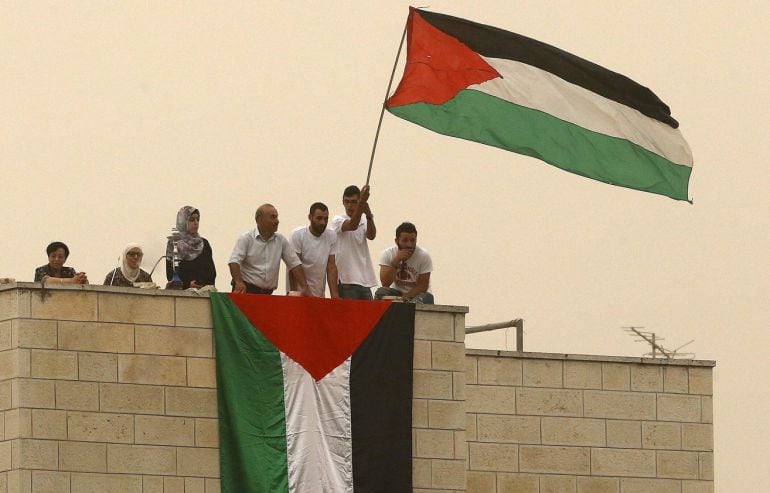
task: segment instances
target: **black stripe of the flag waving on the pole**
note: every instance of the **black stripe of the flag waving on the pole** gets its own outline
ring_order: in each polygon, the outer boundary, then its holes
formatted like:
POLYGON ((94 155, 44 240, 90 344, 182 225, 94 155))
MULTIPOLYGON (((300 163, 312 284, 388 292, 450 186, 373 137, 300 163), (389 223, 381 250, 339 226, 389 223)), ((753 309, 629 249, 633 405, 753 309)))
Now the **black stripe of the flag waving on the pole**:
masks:
POLYGON ((507 58, 547 70, 673 128, 679 126, 671 109, 655 93, 625 75, 520 34, 446 14, 424 10, 416 13, 482 56, 507 58))

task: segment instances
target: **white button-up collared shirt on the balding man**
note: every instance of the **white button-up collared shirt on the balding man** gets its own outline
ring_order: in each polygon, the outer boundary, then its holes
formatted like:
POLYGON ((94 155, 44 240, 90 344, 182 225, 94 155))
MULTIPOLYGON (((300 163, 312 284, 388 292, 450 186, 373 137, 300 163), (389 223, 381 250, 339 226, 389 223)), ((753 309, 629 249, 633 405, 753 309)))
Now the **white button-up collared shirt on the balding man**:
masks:
POLYGON ((238 237, 228 263, 240 264, 244 281, 262 289, 275 289, 281 259, 289 270, 301 264, 283 235, 275 233, 265 241, 259 235, 259 229, 254 228, 238 237))

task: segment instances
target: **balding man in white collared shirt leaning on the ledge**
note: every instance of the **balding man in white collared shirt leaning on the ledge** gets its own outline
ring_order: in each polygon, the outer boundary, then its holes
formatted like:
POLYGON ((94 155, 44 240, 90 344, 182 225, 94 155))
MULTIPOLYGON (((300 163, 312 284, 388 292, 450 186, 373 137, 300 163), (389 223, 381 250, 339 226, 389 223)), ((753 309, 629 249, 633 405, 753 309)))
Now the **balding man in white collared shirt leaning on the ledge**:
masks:
POLYGON ((272 294, 278 287, 281 259, 303 295, 308 294, 302 262, 283 235, 278 233, 278 211, 262 204, 254 215, 257 227, 238 237, 230 254, 234 293, 272 294))

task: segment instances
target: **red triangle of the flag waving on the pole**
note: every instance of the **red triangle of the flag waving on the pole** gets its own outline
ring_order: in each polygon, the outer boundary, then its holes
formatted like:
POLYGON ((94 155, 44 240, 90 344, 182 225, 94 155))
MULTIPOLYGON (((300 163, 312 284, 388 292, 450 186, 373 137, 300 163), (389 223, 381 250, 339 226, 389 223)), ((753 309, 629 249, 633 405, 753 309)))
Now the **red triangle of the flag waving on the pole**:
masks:
POLYGON ((501 77, 475 51, 436 29, 410 8, 404 76, 386 107, 444 104, 473 84, 501 77))

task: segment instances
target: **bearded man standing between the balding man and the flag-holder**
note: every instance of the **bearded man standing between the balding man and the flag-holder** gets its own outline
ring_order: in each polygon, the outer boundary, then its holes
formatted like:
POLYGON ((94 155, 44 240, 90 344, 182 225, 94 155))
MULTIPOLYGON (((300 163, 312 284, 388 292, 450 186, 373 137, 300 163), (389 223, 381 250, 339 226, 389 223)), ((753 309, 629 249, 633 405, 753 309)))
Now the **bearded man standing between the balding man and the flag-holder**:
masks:
MULTIPOLYGON (((300 226, 291 233, 291 246, 302 261, 305 279, 310 296, 323 298, 326 296, 326 282, 329 283, 329 294, 339 298, 337 286, 337 234, 326 225, 329 223, 329 208, 321 202, 310 206, 307 218, 310 225, 300 226)), ((296 289, 296 282, 287 274, 286 285, 291 290, 296 289)))

